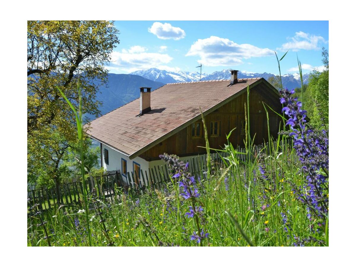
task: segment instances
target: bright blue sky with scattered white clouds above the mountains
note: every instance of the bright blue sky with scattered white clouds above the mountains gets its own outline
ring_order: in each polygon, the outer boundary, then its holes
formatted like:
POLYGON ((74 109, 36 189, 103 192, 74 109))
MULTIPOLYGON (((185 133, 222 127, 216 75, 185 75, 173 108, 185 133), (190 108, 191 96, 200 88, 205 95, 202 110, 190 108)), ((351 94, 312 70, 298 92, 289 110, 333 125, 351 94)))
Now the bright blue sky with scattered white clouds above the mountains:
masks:
POLYGON ((115 21, 120 44, 112 53, 111 73, 151 67, 212 73, 238 69, 257 73, 303 73, 321 68, 321 47, 329 49, 328 21, 115 21))

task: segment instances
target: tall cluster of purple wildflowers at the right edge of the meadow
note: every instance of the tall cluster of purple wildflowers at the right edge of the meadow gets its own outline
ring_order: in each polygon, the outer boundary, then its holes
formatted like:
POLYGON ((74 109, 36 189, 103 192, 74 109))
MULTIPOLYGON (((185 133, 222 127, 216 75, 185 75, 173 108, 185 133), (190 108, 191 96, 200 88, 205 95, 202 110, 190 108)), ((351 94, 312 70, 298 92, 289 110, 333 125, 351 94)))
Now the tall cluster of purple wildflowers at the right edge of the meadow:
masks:
POLYGON ((328 213, 329 198, 328 171, 329 171, 329 139, 325 130, 317 134, 312 129, 306 129, 307 112, 301 110, 302 103, 293 96, 294 91, 281 90, 281 103, 286 104, 282 111, 289 116, 286 125, 292 132, 294 148, 302 163, 302 172, 306 174, 307 185, 304 188, 294 187, 296 198, 309 208, 315 215, 326 219, 328 213), (321 174, 319 171, 323 171, 321 174), (305 190, 307 193, 304 193, 305 190))

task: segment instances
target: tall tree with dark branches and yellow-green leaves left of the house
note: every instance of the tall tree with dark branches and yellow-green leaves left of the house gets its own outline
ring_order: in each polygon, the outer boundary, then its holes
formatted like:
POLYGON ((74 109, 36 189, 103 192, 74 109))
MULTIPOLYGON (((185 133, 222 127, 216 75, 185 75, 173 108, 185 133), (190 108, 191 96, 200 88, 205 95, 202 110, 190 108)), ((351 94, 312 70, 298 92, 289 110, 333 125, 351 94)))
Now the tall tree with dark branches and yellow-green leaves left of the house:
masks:
POLYGON ((59 87, 83 114, 98 115, 95 95, 107 83, 119 31, 109 21, 27 22, 28 179, 57 184, 69 173, 62 164, 77 146, 75 117, 59 87))

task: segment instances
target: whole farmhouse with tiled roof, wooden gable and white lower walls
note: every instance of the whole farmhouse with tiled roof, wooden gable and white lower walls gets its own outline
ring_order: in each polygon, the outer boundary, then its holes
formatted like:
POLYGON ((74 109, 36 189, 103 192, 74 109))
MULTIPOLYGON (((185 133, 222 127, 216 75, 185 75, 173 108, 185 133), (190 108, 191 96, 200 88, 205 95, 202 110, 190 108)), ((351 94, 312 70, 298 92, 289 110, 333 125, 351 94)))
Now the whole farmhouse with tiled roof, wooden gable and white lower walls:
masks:
MULTIPOLYGON (((281 111, 278 91, 263 78, 166 84, 151 92, 140 88, 140 98, 117 108, 90 123, 89 137, 100 142, 101 164, 108 171, 138 173, 162 164, 159 155, 178 155, 186 159, 206 153, 203 112, 211 148, 224 147, 229 140, 243 146, 245 103, 250 88, 250 132, 254 143, 268 139, 266 111, 262 102, 281 111)), ((269 112, 269 130, 276 137, 280 125, 277 114, 269 112)))

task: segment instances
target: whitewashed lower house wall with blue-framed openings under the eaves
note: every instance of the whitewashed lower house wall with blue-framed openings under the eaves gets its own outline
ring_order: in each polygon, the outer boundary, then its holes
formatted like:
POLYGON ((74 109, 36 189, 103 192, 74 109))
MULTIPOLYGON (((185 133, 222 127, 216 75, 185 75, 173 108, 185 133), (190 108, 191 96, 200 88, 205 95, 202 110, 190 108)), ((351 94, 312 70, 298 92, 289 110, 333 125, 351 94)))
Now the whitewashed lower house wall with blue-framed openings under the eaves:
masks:
MULTIPOLYGON (((124 155, 123 153, 113 150, 112 148, 102 144, 102 151, 101 151, 102 155, 102 159, 103 159, 103 167, 104 169, 106 169, 107 171, 115 171, 115 170, 120 170, 120 173, 122 174, 122 168, 121 168, 121 159, 125 159, 127 162, 127 172, 130 172, 130 177, 131 177, 131 181, 132 181, 132 176, 131 176, 131 172, 133 173, 133 162, 136 162, 137 164, 140 164, 140 168, 143 170, 143 172, 145 173, 145 171, 148 171, 148 161, 146 161, 143 158, 140 157, 136 157, 134 159, 129 159, 128 156, 124 155), (107 149, 109 152, 109 164, 105 163, 104 160, 104 149, 107 149)), ((128 177, 127 177, 128 178, 128 177)), ((124 179, 124 181, 126 182, 126 177, 123 176, 122 179, 124 179)), ((140 173, 140 179, 141 182, 143 182, 142 177, 141 177, 141 173, 140 173)), ((128 179, 127 179, 128 180, 128 179)))

